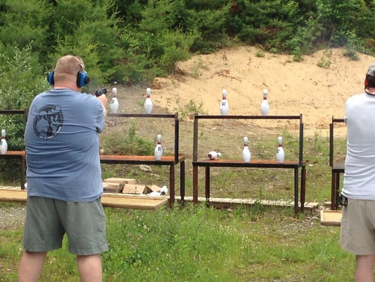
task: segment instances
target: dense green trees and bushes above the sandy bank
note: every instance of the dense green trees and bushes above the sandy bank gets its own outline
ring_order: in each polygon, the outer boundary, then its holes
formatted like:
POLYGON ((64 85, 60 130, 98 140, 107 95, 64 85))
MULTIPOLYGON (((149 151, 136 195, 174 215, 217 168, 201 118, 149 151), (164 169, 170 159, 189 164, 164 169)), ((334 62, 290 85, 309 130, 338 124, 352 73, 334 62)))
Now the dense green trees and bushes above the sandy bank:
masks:
MULTIPOLYGON (((2 0, 0 108, 25 109, 48 87, 63 54, 82 56, 89 89, 148 85, 179 61, 234 46, 255 46, 293 61, 319 49, 375 54, 372 0, 2 0)), ((1 120, 23 148, 23 123, 1 120)))

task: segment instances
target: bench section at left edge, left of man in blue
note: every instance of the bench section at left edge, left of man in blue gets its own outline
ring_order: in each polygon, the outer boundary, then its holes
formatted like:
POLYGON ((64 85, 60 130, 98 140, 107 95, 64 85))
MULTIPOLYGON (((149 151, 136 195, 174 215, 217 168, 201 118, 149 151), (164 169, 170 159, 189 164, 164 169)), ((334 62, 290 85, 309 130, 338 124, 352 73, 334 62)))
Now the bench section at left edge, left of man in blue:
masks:
MULTIPOLYGON (((26 125, 27 121, 27 112, 28 109, 25 110, 0 110, 0 116, 1 115, 13 115, 13 114, 22 114, 24 115, 24 121, 26 125)), ((11 140, 6 139, 6 142, 8 142, 8 148, 11 147, 11 140)), ((26 157, 25 157, 25 150, 20 151, 11 151, 8 150, 6 154, 0 154, 0 159, 20 159, 20 183, 21 183, 21 189, 25 189, 25 183, 26 183, 26 157)))

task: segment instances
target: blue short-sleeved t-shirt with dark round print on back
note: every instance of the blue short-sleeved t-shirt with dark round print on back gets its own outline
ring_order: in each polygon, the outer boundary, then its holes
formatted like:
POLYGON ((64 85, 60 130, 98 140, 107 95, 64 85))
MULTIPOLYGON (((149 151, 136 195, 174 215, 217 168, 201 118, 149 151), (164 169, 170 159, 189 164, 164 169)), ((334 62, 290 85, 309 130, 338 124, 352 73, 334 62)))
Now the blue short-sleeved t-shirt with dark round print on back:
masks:
POLYGON ((25 128, 28 196, 91 202, 103 194, 99 138, 105 116, 90 94, 52 89, 34 98, 25 128))

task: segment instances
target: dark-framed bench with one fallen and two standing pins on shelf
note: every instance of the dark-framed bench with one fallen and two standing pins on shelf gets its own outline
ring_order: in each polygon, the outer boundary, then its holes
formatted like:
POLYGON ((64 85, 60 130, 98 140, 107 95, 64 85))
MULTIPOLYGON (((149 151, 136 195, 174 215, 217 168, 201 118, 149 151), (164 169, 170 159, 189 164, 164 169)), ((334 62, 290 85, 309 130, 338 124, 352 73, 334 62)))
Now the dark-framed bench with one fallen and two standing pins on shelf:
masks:
POLYGON ((243 167, 243 168, 291 168, 294 171, 294 210, 298 214, 298 183, 299 168, 301 168, 300 180, 300 210, 303 211, 305 204, 306 190, 306 169, 305 161, 303 161, 303 122, 302 114, 300 116, 194 116, 193 125, 193 202, 198 203, 198 167, 205 167, 205 198, 209 202, 210 198, 210 167, 243 167), (198 160, 198 121, 203 119, 236 119, 236 120, 299 120, 299 157, 296 160, 286 160, 279 164, 276 160, 269 159, 251 159, 249 163, 245 163, 243 159, 200 159, 198 160))

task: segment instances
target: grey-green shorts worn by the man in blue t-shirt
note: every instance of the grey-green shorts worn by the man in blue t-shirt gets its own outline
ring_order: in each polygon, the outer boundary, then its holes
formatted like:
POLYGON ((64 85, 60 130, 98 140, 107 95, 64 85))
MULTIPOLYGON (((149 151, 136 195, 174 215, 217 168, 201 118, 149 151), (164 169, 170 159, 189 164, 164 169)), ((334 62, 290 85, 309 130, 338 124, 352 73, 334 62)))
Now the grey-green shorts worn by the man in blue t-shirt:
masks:
POLYGON ((108 250, 106 214, 101 199, 93 202, 65 202, 46 197, 27 197, 23 248, 48 252, 62 247, 75 255, 95 255, 108 250))

